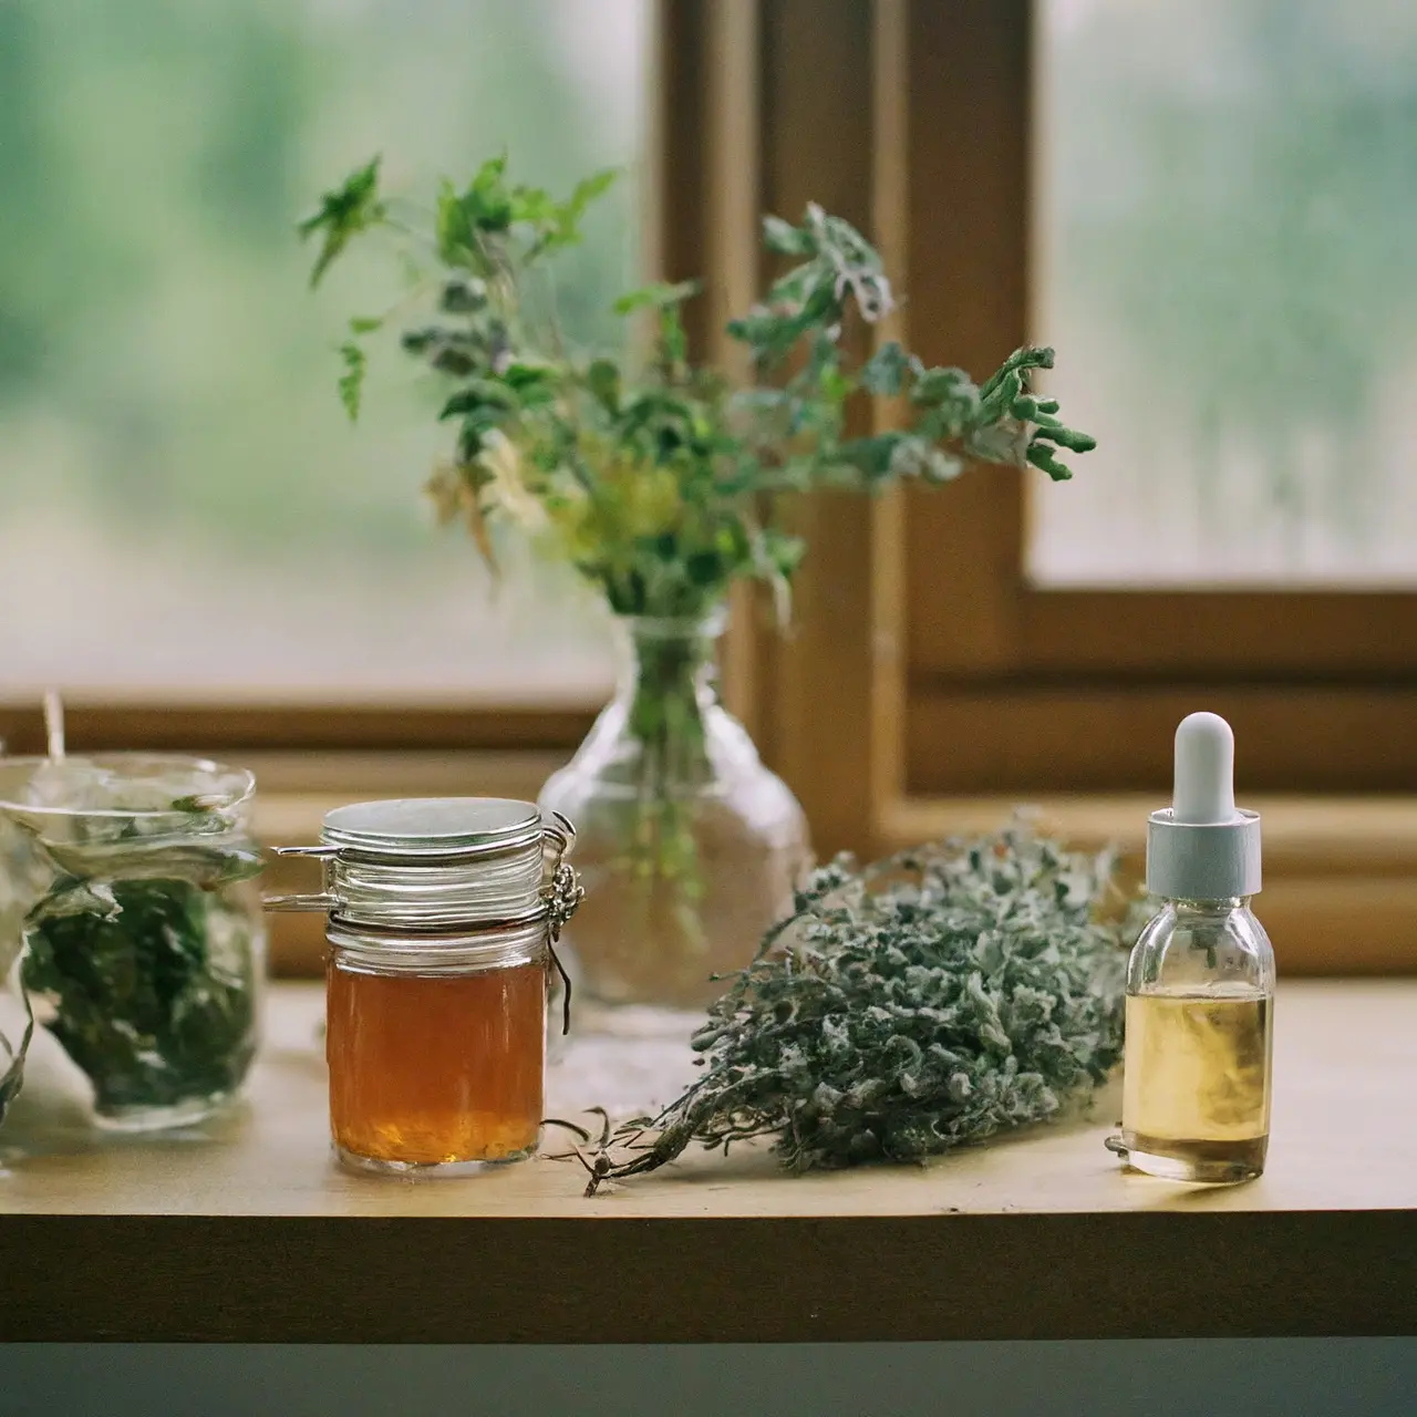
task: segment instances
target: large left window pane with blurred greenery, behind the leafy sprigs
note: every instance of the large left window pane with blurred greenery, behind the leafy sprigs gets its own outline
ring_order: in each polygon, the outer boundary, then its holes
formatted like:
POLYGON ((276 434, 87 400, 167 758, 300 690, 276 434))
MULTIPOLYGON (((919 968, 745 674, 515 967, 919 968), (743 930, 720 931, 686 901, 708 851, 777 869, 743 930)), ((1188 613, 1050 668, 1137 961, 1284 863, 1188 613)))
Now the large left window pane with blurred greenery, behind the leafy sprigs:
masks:
MULTIPOLYGON (((295 222, 374 152, 424 201, 502 147, 568 190, 636 157, 648 0, 0 3, 0 697, 441 694, 608 679, 597 608, 438 531, 446 431, 395 344, 334 347, 391 258, 306 289, 295 222)), ((633 279, 633 176, 564 265, 580 341, 633 279)))

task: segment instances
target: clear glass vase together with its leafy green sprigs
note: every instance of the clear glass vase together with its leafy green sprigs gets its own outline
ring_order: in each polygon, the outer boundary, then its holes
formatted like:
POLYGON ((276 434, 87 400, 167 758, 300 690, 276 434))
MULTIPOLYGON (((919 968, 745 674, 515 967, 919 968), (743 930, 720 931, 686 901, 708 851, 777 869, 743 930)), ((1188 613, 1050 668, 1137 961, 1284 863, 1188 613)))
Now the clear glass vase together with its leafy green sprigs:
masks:
POLYGON ((711 972, 752 958, 808 854, 791 794, 714 697, 711 626, 730 587, 764 582, 788 614, 806 547, 784 513, 803 493, 938 485, 972 462, 1061 480, 1060 449, 1094 441, 1030 388, 1050 349, 1015 350, 982 384, 896 341, 856 359, 860 327, 893 306, 890 282, 870 242, 815 204, 796 225, 764 220, 779 273, 728 324, 755 387, 691 360, 680 312, 693 282, 616 303, 648 320, 648 339, 571 349, 551 262, 611 180, 595 174, 558 200, 513 183, 495 157, 462 187, 444 181, 429 211, 405 214, 380 191, 374 160, 300 231, 319 241, 312 283, 353 239, 380 232, 419 272, 407 307, 350 322, 339 381, 350 415, 367 343, 397 320, 404 353, 448 384, 438 417, 451 456, 429 483, 442 519, 466 524, 489 561, 497 529, 519 530, 628 626, 621 693, 544 802, 581 832, 591 893, 571 942, 591 992, 697 1005, 718 992, 711 972), (897 400, 898 425, 856 435, 874 397, 897 400))

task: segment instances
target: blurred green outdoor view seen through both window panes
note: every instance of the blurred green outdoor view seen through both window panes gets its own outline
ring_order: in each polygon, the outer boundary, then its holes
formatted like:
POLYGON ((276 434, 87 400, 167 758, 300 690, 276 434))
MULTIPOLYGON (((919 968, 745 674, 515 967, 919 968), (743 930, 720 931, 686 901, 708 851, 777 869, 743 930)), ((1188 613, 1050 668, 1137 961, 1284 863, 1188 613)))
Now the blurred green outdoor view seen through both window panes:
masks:
MULTIPOLYGON (((561 315, 636 278, 645 0, 0 0, 0 699, 584 699, 604 626, 431 526, 436 391, 334 395, 354 163, 623 163, 561 315)), ((1417 581, 1417 6, 1041 0, 1033 334, 1101 438, 1043 489, 1054 584, 1417 581)))

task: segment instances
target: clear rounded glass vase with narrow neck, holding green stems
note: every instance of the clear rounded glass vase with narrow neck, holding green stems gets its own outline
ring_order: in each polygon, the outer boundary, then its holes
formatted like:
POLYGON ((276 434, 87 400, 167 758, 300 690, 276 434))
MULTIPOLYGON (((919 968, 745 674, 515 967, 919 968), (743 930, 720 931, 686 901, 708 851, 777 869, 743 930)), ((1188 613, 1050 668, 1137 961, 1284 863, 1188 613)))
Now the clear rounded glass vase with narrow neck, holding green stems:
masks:
POLYGON ((718 703, 724 619, 623 619, 615 699, 541 792, 578 833, 568 966, 606 1003, 710 1003, 811 863, 801 805, 718 703))

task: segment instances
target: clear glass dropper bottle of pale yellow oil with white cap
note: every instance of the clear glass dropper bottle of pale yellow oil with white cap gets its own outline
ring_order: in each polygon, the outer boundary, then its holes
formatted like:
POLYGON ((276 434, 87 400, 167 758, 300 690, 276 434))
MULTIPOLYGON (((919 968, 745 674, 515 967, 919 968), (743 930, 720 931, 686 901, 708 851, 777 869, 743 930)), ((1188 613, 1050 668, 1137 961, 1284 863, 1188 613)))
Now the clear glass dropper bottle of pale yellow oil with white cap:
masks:
POLYGON ((1122 1135, 1110 1145, 1153 1176, 1250 1180, 1270 1144, 1274 951, 1250 910, 1260 816, 1236 808, 1234 734, 1217 714, 1176 730, 1146 887, 1163 905, 1127 968, 1122 1135))

